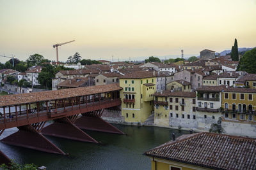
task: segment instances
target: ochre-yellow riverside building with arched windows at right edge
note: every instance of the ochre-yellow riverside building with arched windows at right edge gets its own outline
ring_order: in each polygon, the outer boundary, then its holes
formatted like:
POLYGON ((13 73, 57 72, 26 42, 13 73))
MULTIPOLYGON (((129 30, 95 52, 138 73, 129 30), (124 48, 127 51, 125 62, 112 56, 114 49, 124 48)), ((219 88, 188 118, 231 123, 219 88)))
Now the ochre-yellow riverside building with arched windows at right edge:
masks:
POLYGON ((256 89, 228 87, 223 90, 221 96, 225 120, 256 122, 256 89))

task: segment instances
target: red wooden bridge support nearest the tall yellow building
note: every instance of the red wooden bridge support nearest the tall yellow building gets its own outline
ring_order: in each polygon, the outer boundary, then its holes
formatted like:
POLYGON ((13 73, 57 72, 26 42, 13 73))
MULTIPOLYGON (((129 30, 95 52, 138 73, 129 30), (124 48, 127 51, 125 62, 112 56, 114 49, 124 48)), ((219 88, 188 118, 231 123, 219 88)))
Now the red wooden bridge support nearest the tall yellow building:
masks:
POLYGON ((124 134, 124 132, 117 129, 115 126, 109 124, 101 118, 102 110, 92 111, 89 113, 83 113, 81 118, 78 118, 75 122, 77 127, 90 131, 109 132, 115 134, 124 134))

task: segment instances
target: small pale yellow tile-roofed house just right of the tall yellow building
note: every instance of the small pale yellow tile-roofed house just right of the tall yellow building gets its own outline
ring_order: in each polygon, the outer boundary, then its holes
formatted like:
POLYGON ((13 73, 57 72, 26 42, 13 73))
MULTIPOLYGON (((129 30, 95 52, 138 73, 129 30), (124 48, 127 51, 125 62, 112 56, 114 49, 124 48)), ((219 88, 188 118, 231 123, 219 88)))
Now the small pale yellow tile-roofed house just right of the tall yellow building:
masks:
POLYGON ((168 83, 166 85, 166 90, 181 91, 181 92, 190 92, 191 83, 185 80, 176 80, 168 83))

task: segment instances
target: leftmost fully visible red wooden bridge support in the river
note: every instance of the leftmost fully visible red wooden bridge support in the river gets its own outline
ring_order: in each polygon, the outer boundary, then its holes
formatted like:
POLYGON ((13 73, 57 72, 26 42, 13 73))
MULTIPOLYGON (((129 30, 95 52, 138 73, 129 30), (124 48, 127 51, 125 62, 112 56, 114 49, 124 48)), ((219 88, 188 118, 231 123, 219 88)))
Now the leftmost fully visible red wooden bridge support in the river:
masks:
POLYGON ((42 152, 65 155, 65 153, 60 148, 58 148, 56 145, 51 143, 51 141, 40 134, 44 124, 45 122, 39 122, 32 125, 17 127, 19 131, 11 134, 10 136, 7 136, 1 141, 8 145, 21 146, 42 152))

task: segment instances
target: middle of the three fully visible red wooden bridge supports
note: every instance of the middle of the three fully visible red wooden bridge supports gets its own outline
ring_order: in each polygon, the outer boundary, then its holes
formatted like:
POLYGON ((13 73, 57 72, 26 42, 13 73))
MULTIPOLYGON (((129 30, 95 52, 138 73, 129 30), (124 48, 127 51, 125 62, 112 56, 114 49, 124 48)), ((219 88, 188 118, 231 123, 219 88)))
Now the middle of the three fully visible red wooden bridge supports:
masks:
POLYGON ((98 143, 95 139, 90 137, 72 123, 76 121, 77 116, 78 115, 73 115, 54 120, 53 124, 48 125, 42 130, 42 134, 59 138, 73 139, 76 141, 98 143))

